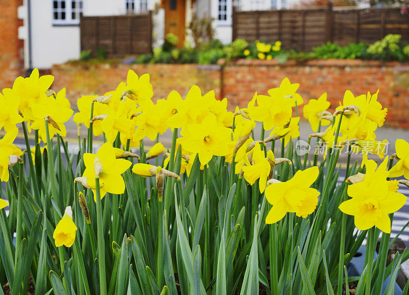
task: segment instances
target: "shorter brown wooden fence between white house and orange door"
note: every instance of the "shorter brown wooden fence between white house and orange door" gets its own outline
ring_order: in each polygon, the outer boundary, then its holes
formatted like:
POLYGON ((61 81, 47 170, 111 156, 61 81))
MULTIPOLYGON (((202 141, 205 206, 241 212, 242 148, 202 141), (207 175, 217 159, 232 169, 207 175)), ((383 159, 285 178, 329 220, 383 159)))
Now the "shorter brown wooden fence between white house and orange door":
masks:
POLYGON ((152 52, 152 15, 86 16, 80 19, 81 51, 107 58, 152 52))

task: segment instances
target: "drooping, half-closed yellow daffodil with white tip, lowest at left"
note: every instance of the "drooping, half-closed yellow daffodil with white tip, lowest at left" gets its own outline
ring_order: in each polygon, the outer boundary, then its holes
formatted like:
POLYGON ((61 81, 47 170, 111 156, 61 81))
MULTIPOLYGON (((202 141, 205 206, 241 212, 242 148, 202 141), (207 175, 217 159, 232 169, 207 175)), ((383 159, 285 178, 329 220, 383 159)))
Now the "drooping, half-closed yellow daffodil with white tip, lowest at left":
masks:
POLYGON ((53 233, 55 246, 61 247, 64 245, 65 247, 71 247, 75 241, 76 231, 77 227, 73 222, 73 211, 71 206, 68 206, 65 208, 65 213, 53 233))

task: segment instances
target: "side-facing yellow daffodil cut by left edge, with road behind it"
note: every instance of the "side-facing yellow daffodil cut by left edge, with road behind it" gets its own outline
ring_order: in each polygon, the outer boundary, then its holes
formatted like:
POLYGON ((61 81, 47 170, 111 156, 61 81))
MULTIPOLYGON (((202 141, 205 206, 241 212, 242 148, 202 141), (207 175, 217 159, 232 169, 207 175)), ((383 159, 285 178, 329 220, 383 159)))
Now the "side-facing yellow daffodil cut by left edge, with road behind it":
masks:
POLYGON ((10 156, 21 156, 21 150, 13 144, 18 133, 18 129, 15 128, 6 133, 2 139, 0 139, 0 180, 9 181, 9 163, 10 156))

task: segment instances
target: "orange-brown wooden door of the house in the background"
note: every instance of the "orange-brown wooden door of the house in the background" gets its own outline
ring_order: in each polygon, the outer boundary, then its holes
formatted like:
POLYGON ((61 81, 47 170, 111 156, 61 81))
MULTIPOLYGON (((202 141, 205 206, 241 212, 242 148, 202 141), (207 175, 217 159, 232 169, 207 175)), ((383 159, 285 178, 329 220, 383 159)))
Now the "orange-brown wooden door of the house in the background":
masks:
POLYGON ((186 0, 165 0, 165 35, 172 33, 179 38, 178 47, 185 41, 186 0))

